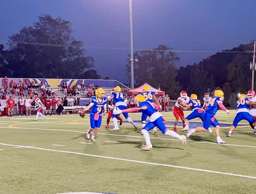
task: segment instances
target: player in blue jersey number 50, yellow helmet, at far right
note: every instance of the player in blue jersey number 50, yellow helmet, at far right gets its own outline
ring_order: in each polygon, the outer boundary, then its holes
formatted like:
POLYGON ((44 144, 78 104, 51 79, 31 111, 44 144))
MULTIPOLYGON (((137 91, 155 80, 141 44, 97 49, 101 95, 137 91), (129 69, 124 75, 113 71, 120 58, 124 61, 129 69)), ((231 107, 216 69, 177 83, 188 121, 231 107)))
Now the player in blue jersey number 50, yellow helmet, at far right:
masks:
POLYGON ((237 124, 241 121, 241 120, 247 120, 249 121, 249 123, 252 123, 253 127, 254 127, 254 132, 256 131, 256 122, 253 119, 252 115, 250 115, 248 108, 249 108, 249 99, 246 97, 245 94, 241 94, 239 96, 239 100, 236 102, 236 107, 237 107, 237 111, 236 111, 236 117, 233 121, 232 126, 230 126, 229 128, 229 132, 227 133, 226 137, 230 137, 232 131, 236 128, 237 124))

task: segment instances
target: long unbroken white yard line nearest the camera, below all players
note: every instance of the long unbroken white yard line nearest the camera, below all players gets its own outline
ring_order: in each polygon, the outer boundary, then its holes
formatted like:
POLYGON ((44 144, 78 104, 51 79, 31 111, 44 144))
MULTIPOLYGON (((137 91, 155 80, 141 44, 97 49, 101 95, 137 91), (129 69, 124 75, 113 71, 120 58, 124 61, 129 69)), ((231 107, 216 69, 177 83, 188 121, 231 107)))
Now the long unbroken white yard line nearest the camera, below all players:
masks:
POLYGON ((161 163, 154 163, 154 162, 144 162, 144 161, 138 161, 138 160, 130 160, 130 159, 124 159, 124 158, 115 158, 115 157, 102 156, 102 155, 94 155, 94 154, 85 154, 85 153, 79 153, 79 152, 69 152, 69 151, 55 150, 55 149, 45 149, 45 148, 41 148, 41 147, 27 147, 27 146, 5 144, 5 143, 0 143, 0 145, 12 146, 12 147, 26 147, 26 148, 30 148, 30 149, 38 149, 38 150, 44 150, 44 151, 52 151, 52 152, 62 152, 62 153, 68 153, 68 154, 85 155, 85 156, 91 156, 91 157, 97 157, 97 158, 105 158, 105 159, 111 159, 111 160, 120 160, 120 161, 126 161, 126 162, 136 162, 136 163, 141 163, 141 164, 165 166, 165 167, 172 167, 172 168, 178 168, 178 169, 194 170, 194 171, 208 172, 208 173, 214 173, 214 174, 221 174, 221 175, 228 175, 228 176, 238 176, 238 177, 243 177, 243 178, 256 179, 256 176, 239 175, 239 174, 233 174, 233 173, 227 173, 227 172, 219 172, 219 171, 206 170, 206 169, 196 169, 196 168, 190 168, 190 167, 185 167, 185 166, 175 166, 175 165, 170 165, 170 164, 161 164, 161 163))

